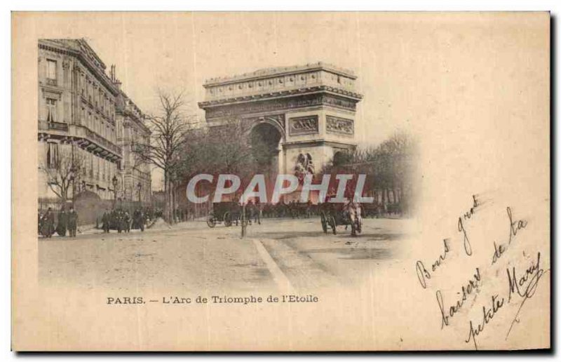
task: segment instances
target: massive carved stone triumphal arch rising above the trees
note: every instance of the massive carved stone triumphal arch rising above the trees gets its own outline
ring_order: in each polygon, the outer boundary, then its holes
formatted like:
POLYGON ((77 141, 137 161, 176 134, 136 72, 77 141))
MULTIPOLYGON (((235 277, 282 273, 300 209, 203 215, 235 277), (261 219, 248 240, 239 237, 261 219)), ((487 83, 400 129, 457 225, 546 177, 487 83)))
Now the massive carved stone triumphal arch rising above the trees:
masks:
POLYGON ((273 143, 275 173, 293 174, 302 163, 319 170, 336 152, 356 147, 356 105, 362 95, 355 80, 352 72, 323 62, 261 69, 209 79, 198 106, 210 127, 248 121, 252 136, 273 143))

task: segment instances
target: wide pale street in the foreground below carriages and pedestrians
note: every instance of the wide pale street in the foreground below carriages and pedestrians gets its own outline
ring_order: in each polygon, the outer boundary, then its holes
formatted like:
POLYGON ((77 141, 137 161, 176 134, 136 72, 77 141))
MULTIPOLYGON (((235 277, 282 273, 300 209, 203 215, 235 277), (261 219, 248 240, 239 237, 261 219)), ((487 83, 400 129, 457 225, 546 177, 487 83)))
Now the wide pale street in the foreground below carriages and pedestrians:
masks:
POLYGON ((365 219, 352 237, 344 226, 324 234, 318 217, 265 219, 241 227, 203 220, 145 232, 39 239, 42 286, 137 290, 309 291, 353 286, 372 269, 400 260, 410 220, 365 219))

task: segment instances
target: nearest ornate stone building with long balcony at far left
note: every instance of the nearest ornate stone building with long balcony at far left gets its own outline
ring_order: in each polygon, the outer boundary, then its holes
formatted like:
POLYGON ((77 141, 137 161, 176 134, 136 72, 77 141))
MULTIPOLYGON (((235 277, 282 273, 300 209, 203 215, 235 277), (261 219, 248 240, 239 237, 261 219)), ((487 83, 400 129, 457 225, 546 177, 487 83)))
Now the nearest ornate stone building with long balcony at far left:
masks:
POLYGON ((39 197, 127 194, 119 81, 83 39, 41 39, 38 61, 39 197))

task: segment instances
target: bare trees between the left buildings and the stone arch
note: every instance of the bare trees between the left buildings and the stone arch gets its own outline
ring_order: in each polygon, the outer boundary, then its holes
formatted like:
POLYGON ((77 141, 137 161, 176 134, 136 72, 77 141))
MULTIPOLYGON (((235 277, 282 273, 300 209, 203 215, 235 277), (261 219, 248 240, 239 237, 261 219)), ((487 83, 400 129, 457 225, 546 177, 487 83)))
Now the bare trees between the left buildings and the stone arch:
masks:
MULTIPOLYGON (((164 219, 172 223, 178 206, 177 189, 198 173, 232 173, 242 179, 257 172, 256 154, 266 145, 250 142, 250 123, 228 121, 209 130, 184 113, 182 94, 158 93, 159 115, 147 116, 152 131, 149 143, 133 146, 137 163, 160 168, 164 185, 164 219)), ((259 161, 259 160, 257 160, 259 161)))

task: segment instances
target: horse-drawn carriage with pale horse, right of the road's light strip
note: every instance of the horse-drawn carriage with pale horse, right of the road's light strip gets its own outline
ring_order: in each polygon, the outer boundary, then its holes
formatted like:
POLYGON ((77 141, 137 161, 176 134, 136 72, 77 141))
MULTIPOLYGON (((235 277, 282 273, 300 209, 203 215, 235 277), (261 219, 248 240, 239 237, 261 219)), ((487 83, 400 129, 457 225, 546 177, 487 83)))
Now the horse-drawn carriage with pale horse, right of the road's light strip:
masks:
POLYGON ((329 227, 333 234, 337 234, 338 226, 348 227, 351 225, 351 236, 356 236, 362 232, 362 217, 360 215, 360 205, 358 203, 323 203, 320 206, 320 219, 323 232, 327 234, 329 227))

